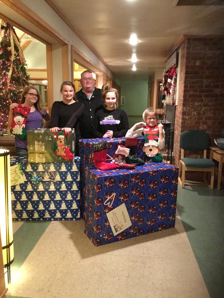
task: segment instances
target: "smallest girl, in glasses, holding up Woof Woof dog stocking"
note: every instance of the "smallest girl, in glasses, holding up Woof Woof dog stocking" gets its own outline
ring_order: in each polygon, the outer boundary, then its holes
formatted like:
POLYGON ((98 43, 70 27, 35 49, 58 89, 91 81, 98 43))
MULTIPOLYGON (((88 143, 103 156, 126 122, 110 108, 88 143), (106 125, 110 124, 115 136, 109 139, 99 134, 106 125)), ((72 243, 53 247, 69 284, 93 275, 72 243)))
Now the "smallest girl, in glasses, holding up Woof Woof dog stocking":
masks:
POLYGON ((125 135, 126 138, 137 138, 142 136, 145 137, 145 146, 143 151, 146 154, 146 159, 154 162, 162 162, 162 155, 160 150, 165 146, 165 131, 163 125, 158 125, 159 116, 154 108, 148 108, 142 114, 144 122, 136 123, 131 129, 128 130, 125 135), (146 122, 146 123, 145 123, 146 122), (136 130, 137 127, 141 127, 136 130), (157 147, 157 154, 153 154, 157 147))

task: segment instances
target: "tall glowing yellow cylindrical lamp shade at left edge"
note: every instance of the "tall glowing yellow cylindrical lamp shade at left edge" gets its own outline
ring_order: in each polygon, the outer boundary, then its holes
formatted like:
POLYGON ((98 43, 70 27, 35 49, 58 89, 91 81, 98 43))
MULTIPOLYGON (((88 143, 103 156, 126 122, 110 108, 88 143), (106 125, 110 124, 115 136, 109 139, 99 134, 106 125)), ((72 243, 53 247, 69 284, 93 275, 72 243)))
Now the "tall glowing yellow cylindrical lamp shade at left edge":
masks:
POLYGON ((0 148, 0 227, 4 267, 14 260, 9 150, 0 148))

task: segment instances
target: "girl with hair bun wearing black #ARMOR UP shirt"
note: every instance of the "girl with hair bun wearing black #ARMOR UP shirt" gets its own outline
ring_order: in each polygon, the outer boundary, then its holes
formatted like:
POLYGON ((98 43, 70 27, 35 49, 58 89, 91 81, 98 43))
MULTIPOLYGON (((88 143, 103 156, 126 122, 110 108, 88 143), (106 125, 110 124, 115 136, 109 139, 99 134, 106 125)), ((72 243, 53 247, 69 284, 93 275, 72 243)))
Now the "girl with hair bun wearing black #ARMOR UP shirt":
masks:
POLYGON ((115 107, 117 98, 117 89, 110 88, 108 84, 102 86, 102 99, 106 108, 96 112, 93 121, 95 138, 120 138, 127 133, 128 117, 125 111, 115 107))

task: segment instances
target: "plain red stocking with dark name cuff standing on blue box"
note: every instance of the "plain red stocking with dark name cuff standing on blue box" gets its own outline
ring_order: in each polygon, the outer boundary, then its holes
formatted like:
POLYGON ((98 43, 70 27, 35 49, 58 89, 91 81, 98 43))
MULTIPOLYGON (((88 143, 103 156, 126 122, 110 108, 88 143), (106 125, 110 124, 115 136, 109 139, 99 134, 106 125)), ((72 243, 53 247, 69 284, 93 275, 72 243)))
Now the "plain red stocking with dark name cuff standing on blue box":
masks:
POLYGON ((107 142, 95 144, 93 146, 93 156, 94 156, 94 166, 97 169, 106 171, 113 170, 117 168, 115 163, 107 163, 107 142))

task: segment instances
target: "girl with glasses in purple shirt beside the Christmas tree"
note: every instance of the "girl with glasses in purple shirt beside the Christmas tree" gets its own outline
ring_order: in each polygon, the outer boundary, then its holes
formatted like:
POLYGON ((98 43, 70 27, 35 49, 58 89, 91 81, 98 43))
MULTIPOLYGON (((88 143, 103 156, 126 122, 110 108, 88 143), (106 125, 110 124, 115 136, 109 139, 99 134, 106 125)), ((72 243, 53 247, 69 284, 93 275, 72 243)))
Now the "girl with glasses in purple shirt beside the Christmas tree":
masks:
MULTIPOLYGON (((40 94, 39 91, 34 86, 27 86, 21 96, 20 100, 21 105, 30 107, 30 113, 27 116, 27 122, 25 125, 25 130, 30 130, 30 128, 40 128, 42 123, 42 118, 45 120, 44 127, 50 125, 50 116, 47 111, 42 108, 40 104, 40 94)), ((12 103, 9 110, 8 118, 8 128, 12 124, 13 119, 13 109, 17 108, 17 103, 12 103)), ((22 140, 19 137, 15 136, 15 146, 16 146, 16 155, 27 157, 27 141, 22 140)))

